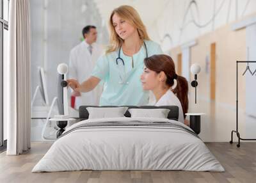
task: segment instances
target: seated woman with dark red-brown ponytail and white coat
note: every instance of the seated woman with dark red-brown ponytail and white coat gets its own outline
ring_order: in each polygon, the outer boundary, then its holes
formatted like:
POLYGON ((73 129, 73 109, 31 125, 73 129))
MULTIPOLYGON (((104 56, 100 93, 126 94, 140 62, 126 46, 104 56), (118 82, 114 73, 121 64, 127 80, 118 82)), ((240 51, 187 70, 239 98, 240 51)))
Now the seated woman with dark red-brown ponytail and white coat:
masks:
POLYGON ((144 60, 141 75, 143 90, 151 90, 156 98, 154 106, 178 106, 179 122, 184 123, 188 113, 188 81, 178 76, 170 56, 159 54, 144 60))

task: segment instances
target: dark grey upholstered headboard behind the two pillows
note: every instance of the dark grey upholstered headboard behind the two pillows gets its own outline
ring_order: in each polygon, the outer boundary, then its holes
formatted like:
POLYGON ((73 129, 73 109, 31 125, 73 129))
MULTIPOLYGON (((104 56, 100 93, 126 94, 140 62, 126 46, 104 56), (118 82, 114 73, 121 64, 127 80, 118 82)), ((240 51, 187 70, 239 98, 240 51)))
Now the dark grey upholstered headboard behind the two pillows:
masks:
MULTIPOLYGON (((119 106, 80 106, 79 107, 79 118, 81 120, 87 120, 89 117, 89 113, 86 109, 86 107, 119 107, 119 106)), ((124 107, 124 106, 122 106, 124 107)), ((140 109, 170 109, 170 112, 168 113, 167 118, 169 120, 176 120, 178 121, 179 119, 179 107, 178 106, 125 106, 131 108, 140 108, 140 109)), ((126 117, 131 117, 131 114, 127 110, 126 113, 124 114, 126 117)))

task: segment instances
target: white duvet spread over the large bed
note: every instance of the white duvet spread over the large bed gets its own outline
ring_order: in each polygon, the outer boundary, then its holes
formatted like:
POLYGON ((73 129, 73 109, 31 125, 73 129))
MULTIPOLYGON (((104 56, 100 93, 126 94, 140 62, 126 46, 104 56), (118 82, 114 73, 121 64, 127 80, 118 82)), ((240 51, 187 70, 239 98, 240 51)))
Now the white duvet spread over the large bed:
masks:
MULTIPOLYGON (((170 122, 163 118, 84 120, 55 141, 32 172, 72 170, 225 171, 200 138, 168 127, 89 127, 93 122, 170 122)), ((186 127, 189 129, 188 127, 186 127)))

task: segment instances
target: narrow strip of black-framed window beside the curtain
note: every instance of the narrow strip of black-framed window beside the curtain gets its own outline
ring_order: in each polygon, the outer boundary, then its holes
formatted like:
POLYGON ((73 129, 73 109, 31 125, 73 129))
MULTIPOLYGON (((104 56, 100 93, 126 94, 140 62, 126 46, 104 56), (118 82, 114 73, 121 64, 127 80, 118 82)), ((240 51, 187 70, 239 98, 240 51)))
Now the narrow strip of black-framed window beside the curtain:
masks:
POLYGON ((3 121, 3 63, 7 59, 9 0, 0 0, 0 151, 6 148, 6 123, 3 121))

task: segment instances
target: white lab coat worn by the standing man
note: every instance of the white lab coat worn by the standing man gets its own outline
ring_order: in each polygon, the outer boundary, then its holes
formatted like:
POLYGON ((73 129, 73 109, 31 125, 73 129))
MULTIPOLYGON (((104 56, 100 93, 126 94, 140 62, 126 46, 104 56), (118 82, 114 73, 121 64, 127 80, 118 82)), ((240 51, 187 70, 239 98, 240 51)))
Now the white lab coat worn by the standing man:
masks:
MULTIPOLYGON (((95 63, 103 53, 102 47, 93 43, 91 55, 88 46, 83 41, 70 51, 68 78, 77 79, 79 83, 83 83, 91 76, 95 63)), ((101 93, 102 86, 100 84, 91 92, 81 93, 81 97, 76 97, 75 108, 78 109, 81 105, 99 105, 101 93)))

